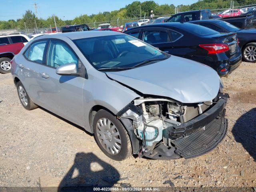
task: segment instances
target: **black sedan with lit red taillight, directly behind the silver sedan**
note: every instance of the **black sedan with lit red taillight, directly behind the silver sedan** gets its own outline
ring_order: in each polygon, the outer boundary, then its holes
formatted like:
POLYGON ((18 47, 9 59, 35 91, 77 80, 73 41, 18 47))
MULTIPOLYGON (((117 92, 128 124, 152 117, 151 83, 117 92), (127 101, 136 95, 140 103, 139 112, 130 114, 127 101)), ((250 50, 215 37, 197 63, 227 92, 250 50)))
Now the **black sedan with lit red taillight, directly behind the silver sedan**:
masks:
POLYGON ((206 64, 225 76, 241 64, 236 33, 220 34, 190 23, 162 23, 140 26, 124 33, 139 38, 175 56, 206 64))

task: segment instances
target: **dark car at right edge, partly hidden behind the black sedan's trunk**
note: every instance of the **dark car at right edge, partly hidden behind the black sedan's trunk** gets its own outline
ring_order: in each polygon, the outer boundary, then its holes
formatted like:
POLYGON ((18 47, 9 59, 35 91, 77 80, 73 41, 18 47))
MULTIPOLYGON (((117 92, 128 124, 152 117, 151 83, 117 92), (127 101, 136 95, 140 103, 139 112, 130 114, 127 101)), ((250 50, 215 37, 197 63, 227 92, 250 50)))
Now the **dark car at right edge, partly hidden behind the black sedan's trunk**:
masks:
POLYGON ((201 20, 190 23, 199 24, 220 33, 236 32, 244 60, 246 62, 256 62, 256 29, 240 29, 220 20, 201 20))

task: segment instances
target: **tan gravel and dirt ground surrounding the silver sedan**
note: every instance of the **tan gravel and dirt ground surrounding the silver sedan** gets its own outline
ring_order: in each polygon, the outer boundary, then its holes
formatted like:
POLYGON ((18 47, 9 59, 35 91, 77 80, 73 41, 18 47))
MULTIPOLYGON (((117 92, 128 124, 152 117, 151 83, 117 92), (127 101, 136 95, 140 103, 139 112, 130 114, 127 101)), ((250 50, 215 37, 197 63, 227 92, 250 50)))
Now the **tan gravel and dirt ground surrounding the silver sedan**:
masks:
POLYGON ((122 162, 106 157, 92 135, 50 112, 25 110, 10 74, 0 74, 0 186, 104 184, 256 186, 256 65, 243 62, 222 78, 230 95, 228 134, 210 153, 185 160, 122 162), (181 178, 173 179, 177 176, 181 178))

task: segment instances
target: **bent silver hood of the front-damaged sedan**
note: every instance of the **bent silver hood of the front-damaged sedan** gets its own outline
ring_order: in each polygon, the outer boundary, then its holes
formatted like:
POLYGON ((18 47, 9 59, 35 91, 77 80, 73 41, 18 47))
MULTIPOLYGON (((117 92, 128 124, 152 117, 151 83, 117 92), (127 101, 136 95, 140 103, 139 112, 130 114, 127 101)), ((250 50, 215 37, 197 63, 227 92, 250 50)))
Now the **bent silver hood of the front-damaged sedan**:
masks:
POLYGON ((135 69, 106 74, 143 94, 164 96, 182 103, 212 100, 220 89, 220 78, 216 71, 177 56, 135 69))

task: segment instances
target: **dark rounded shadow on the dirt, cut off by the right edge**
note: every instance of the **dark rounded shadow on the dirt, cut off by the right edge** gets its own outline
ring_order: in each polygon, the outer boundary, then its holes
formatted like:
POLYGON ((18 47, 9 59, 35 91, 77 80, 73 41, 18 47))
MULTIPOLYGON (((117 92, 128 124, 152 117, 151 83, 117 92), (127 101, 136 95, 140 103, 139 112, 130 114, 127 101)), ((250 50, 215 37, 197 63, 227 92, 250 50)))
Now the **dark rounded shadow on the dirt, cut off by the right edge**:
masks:
POLYGON ((245 150, 256 161, 256 108, 246 112, 232 128, 236 142, 242 144, 245 150))

